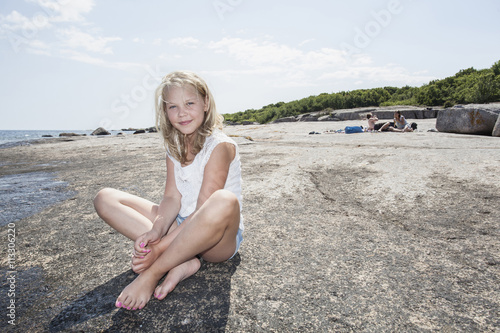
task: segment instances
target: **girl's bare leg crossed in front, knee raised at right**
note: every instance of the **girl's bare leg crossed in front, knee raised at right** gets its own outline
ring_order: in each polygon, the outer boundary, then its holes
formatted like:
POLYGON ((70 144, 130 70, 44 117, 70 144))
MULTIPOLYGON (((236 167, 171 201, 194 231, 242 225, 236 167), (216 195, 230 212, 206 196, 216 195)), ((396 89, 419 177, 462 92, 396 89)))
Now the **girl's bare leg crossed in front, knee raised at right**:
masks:
MULTIPOLYGON (((239 220, 240 208, 236 196, 225 190, 216 191, 190 221, 181 224, 180 231, 172 232, 175 238, 165 252, 123 290, 117 303, 125 308, 142 308, 167 271, 197 254, 202 254, 205 260, 211 262, 229 259, 236 250, 239 220)), ((161 299, 170 291, 169 288, 164 282, 155 294, 161 299)))

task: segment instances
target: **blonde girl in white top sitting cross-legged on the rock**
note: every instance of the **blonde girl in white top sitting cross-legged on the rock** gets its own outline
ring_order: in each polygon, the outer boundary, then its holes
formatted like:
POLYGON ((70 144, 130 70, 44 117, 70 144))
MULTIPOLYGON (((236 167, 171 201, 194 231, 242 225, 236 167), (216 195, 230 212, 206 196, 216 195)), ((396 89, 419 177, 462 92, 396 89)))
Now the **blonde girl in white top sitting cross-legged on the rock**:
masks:
POLYGON ((198 271, 198 257, 232 258, 243 240, 238 149, 221 131, 223 118, 207 84, 194 73, 173 72, 163 78, 155 101, 167 150, 160 204, 115 189, 94 199, 99 216, 134 241, 132 269, 139 275, 115 304, 128 310, 142 309, 152 295, 165 298, 198 271))

